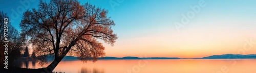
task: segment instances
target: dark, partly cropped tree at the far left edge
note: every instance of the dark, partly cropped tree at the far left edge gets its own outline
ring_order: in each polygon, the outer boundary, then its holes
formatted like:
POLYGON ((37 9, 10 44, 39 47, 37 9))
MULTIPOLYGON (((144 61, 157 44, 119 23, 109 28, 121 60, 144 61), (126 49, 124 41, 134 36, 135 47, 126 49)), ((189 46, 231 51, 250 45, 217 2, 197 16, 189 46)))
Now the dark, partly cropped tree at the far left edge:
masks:
MULTIPOLYGON (((3 11, 0 11, 0 32, 1 32, 1 35, 0 35, 0 41, 1 41, 1 52, 4 52, 2 48, 5 48, 3 45, 5 44, 4 43, 4 18, 8 18, 8 64, 9 66, 13 66, 13 63, 14 63, 14 60, 19 58, 21 56, 21 53, 20 51, 22 51, 22 45, 24 44, 24 41, 25 41, 25 35, 24 34, 20 34, 10 23, 10 18, 9 16, 4 13, 3 11)), ((1 53, 0 54, 0 57, 1 57, 1 63, 3 63, 3 58, 4 58, 4 53, 1 53)), ((2 66, 2 65, 1 65, 2 66)))

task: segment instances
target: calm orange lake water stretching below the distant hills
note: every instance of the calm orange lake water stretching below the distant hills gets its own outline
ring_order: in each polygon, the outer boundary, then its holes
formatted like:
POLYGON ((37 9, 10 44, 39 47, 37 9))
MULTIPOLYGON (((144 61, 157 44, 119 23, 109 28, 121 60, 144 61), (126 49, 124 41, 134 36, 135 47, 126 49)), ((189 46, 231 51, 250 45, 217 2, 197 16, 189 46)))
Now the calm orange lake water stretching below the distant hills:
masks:
MULTIPOLYGON (((40 68, 32 62, 22 67, 40 68)), ((66 73, 256 73, 256 59, 240 60, 98 60, 61 61, 54 69, 66 73)))

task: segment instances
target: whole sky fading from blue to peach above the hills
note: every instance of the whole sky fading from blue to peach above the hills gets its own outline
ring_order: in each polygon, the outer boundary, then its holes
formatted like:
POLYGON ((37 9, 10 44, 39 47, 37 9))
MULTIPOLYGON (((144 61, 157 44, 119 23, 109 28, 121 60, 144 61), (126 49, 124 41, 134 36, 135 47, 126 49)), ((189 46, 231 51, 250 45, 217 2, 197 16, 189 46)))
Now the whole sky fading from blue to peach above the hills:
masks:
MULTIPOLYGON (((86 0, 109 10, 118 39, 105 46, 112 57, 201 58, 256 54, 256 1, 253 0, 86 0)), ((1 1, 2 11, 18 24, 39 1, 1 1), (28 2, 28 3, 23 3, 28 2), (16 15, 16 16, 15 16, 16 15)))

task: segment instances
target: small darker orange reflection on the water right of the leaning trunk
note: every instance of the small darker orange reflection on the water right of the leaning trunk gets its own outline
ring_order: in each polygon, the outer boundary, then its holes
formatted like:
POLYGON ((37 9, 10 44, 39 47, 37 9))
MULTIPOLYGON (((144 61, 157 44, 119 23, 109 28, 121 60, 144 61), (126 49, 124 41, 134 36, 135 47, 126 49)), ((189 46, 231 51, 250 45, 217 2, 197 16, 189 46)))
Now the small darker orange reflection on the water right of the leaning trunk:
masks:
POLYGON ((104 70, 93 68, 93 70, 88 69, 87 67, 81 67, 81 70, 78 73, 104 73, 104 70))

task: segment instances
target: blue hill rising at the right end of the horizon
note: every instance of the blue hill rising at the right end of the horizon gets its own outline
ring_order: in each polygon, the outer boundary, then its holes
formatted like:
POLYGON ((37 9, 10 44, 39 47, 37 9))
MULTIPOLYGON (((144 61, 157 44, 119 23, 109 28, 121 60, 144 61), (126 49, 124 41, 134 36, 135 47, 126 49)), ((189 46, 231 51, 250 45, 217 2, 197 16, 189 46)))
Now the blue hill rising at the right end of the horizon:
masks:
POLYGON ((240 55, 240 54, 224 54, 224 55, 212 55, 203 57, 201 59, 256 59, 255 54, 240 55))

